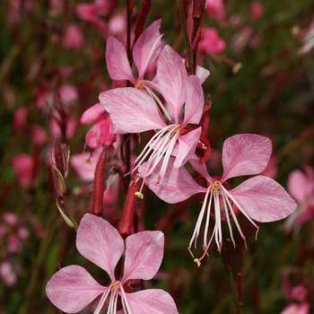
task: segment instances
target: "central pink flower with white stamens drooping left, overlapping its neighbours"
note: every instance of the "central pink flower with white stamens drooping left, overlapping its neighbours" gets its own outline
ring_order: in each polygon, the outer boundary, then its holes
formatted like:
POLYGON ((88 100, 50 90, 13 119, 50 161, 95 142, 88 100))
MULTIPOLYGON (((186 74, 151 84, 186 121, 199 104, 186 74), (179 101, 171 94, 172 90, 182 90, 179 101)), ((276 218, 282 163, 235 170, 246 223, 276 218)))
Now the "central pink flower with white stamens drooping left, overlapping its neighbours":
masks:
POLYGON ((181 57, 170 46, 161 50, 155 81, 165 106, 149 88, 142 91, 132 87, 102 92, 100 103, 109 112, 115 134, 158 130, 135 160, 132 172, 148 161, 146 178, 161 164, 159 177, 162 179, 171 155, 176 156, 174 166, 178 168, 196 150, 201 127, 188 126, 200 122, 204 93, 199 78, 188 76, 181 57))

